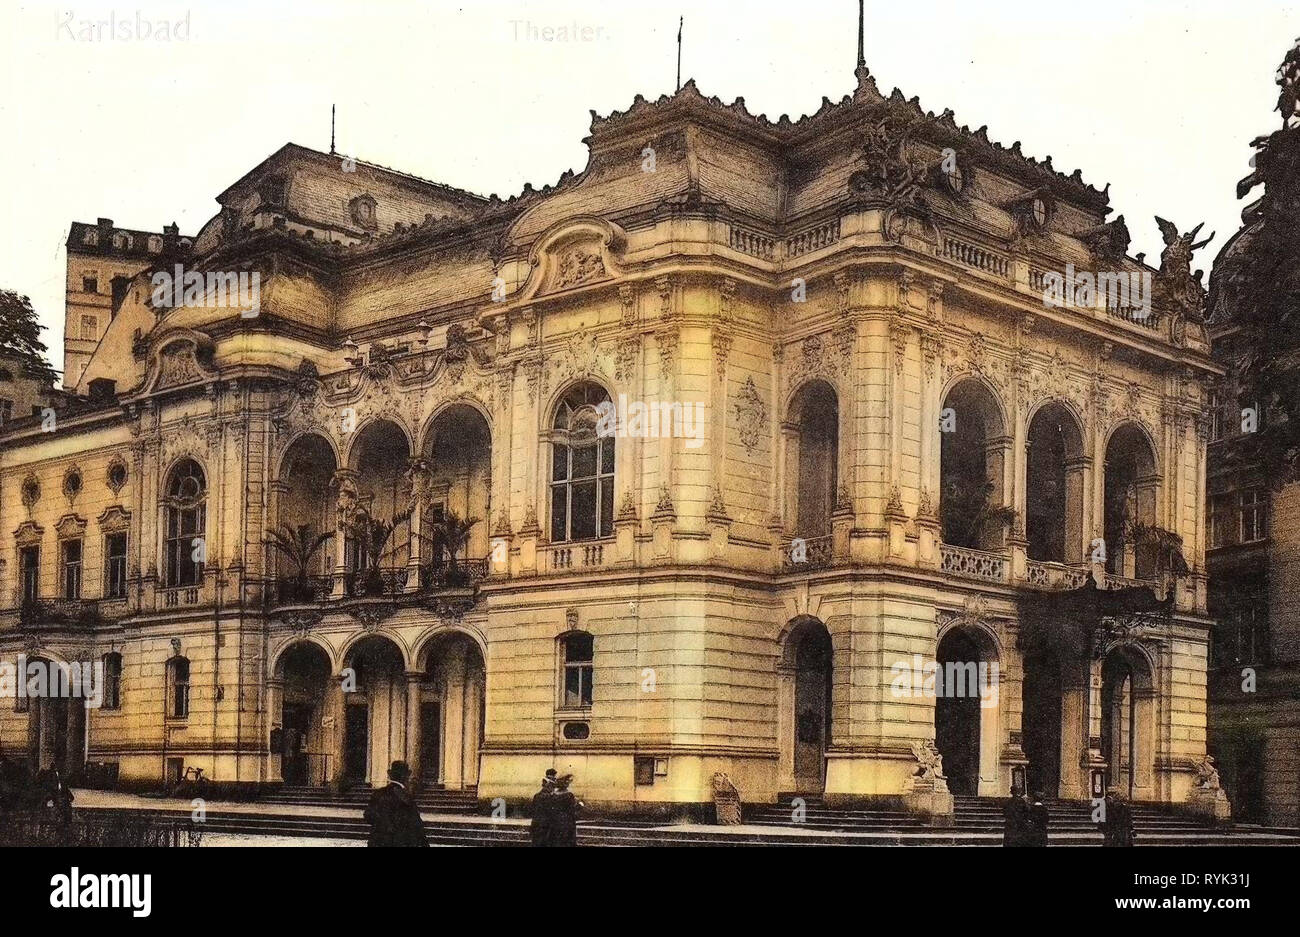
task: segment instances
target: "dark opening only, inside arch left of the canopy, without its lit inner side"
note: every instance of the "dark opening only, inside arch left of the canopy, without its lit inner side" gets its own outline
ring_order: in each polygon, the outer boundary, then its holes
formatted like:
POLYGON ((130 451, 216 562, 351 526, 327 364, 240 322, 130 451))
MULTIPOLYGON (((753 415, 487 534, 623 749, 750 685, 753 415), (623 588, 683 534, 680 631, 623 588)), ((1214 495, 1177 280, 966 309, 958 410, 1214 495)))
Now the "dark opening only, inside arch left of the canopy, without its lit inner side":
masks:
POLYGON ((979 793, 980 698, 978 669, 972 669, 979 661, 980 648, 967 634, 949 632, 939 643, 935 746, 944 756, 944 773, 953 794, 979 793), (950 674, 957 680, 949 681, 950 674), (975 680, 963 678, 967 674, 975 680))

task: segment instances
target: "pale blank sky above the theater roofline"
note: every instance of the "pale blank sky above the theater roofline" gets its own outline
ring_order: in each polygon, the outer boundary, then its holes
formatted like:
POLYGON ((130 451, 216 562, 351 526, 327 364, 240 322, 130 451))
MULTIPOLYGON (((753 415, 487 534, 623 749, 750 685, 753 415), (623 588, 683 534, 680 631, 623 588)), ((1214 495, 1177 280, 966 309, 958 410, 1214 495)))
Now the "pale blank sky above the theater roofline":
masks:
MULTIPOLYGON (((672 91, 679 14, 682 81, 706 95, 794 118, 853 90, 853 0, 5 0, 0 286, 31 296, 61 368, 72 221, 195 234, 286 142, 328 149, 330 103, 342 153, 484 195, 555 182, 586 165, 589 110, 672 91), (87 38, 110 12, 188 25, 87 38), (575 25, 576 42, 542 32, 575 25)), ((1283 0, 868 0, 866 53, 885 94, 1110 182, 1134 252, 1158 256, 1153 214, 1205 221, 1208 270, 1249 142, 1280 126, 1274 71, 1297 35, 1283 0)))

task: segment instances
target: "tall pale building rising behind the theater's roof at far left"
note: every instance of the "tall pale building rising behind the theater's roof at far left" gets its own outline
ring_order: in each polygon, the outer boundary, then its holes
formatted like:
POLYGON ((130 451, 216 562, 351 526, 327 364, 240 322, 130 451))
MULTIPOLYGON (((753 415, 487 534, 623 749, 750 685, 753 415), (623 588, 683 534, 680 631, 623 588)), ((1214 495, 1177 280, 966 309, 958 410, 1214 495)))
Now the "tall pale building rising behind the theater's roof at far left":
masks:
POLYGON ((68 231, 64 307, 65 389, 81 385, 82 372, 126 296, 126 285, 161 256, 166 240, 176 238, 174 225, 157 233, 114 227, 110 218, 99 218, 94 225, 73 222, 68 231))

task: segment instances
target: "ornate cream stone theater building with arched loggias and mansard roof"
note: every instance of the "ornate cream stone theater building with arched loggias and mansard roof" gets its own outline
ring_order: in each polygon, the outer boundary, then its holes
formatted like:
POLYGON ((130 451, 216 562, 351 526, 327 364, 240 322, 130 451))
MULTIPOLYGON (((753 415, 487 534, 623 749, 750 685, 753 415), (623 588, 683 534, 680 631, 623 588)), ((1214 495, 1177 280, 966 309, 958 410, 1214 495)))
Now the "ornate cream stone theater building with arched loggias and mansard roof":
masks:
POLYGON ((126 287, 78 381, 116 396, 0 438, 0 650, 104 659, 116 708, 5 704, 5 750, 140 786, 406 758, 512 799, 555 765, 621 808, 707 802, 724 772, 749 802, 942 814, 1026 765, 1061 797, 1101 772, 1188 801, 1221 369, 1174 300, 1043 290, 1067 264, 1191 274, 1124 256, 1078 173, 861 65, 800 121, 688 83, 588 143, 510 200, 286 146, 187 257, 259 273, 257 316, 126 287), (702 420, 602 437, 606 400, 702 420), (963 516, 972 485, 1015 515, 963 516), (454 568, 452 513, 477 519, 454 568), (1130 516, 1192 573, 1121 546, 1130 516), (278 524, 335 537, 296 576, 278 524), (1089 572, 1173 604, 1028 623, 1089 572), (936 659, 996 663, 993 703, 900 690, 936 659))

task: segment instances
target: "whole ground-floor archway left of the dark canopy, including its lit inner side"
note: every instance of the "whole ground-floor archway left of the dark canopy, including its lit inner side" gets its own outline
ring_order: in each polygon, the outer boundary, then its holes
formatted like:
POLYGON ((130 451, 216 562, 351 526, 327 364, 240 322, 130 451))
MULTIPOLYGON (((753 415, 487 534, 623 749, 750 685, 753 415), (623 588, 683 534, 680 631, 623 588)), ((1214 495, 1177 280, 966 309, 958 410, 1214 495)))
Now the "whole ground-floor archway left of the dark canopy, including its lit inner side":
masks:
POLYGON ((956 624, 935 654, 935 746, 953 794, 998 794, 1000 664, 983 629, 956 624))

